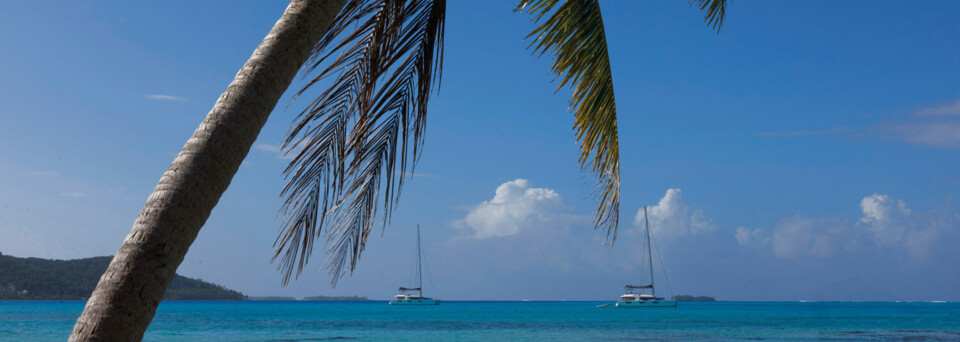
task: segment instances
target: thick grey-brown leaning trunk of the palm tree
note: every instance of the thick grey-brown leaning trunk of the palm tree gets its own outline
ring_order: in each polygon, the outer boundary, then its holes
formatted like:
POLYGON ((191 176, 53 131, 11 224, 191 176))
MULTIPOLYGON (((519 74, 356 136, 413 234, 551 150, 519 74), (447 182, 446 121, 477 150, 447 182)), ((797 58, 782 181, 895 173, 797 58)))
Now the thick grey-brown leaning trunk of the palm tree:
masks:
POLYGON ((344 0, 293 0, 147 199, 70 335, 139 341, 190 244, 344 0))

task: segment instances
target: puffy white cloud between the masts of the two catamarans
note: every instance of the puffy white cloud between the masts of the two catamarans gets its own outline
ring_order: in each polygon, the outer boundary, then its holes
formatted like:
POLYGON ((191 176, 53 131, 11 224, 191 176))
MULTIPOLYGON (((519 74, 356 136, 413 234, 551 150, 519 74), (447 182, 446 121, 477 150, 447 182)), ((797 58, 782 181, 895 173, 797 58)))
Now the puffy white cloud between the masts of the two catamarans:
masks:
POLYGON ((562 198, 553 189, 533 188, 530 181, 516 179, 500 184, 493 199, 474 207, 454 226, 472 230, 478 239, 516 235, 525 227, 556 216, 561 203, 562 198))

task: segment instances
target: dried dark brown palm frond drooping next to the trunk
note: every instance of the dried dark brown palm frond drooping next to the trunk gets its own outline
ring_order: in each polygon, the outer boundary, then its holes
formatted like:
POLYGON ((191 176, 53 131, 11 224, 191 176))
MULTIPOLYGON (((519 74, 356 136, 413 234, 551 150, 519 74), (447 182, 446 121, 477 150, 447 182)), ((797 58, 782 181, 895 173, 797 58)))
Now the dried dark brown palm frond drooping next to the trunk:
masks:
POLYGON ((445 0, 351 0, 314 49, 304 72, 315 76, 295 98, 332 81, 284 142, 295 154, 284 170, 285 224, 274 243, 284 285, 325 235, 324 265, 336 286, 356 267, 377 219, 389 221, 439 86, 445 11, 445 0))

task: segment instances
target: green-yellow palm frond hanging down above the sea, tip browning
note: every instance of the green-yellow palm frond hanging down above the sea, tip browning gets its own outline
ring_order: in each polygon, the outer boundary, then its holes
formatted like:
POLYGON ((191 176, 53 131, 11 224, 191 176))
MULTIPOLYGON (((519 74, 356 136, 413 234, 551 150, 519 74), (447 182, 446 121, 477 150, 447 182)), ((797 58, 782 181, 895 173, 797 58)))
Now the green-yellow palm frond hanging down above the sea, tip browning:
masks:
POLYGON ((521 0, 516 10, 533 14, 536 22, 543 20, 527 36, 535 39, 530 46, 540 55, 550 52, 556 56, 551 70, 562 80, 557 90, 567 84, 573 87, 570 107, 580 141, 580 166, 587 168, 589 163, 599 178, 595 228, 606 228, 607 238, 612 236, 611 242, 616 241, 620 152, 613 76, 600 5, 596 0, 521 0))

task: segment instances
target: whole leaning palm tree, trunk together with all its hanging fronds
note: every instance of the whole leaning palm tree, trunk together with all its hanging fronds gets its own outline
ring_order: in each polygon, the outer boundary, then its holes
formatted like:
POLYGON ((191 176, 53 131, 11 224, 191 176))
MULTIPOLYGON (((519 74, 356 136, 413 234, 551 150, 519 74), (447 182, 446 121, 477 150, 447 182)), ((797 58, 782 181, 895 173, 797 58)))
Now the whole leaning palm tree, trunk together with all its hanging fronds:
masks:
MULTIPOLYGON (((691 4, 719 27, 725 0, 691 4)), ((445 7, 445 0, 292 0, 161 177, 70 340, 143 338, 187 249, 301 68, 316 76, 297 97, 335 78, 284 144, 295 157, 285 170, 286 221, 274 259, 286 284, 325 234, 333 284, 354 270, 371 227, 378 217, 389 220, 419 158, 427 102, 439 86, 445 7)), ((522 0, 517 9, 524 8, 537 21, 547 18, 531 33, 532 46, 555 54, 560 87, 574 88, 580 162, 599 178, 596 227, 615 239, 619 152, 599 4, 522 0)))

